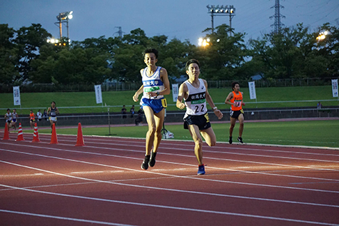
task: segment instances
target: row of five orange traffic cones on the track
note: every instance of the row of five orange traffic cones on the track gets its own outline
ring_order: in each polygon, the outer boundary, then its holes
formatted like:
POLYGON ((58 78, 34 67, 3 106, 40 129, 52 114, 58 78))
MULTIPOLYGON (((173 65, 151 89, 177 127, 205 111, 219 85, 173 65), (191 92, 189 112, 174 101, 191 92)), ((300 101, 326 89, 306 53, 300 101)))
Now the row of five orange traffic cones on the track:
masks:
MULTIPOLYGON (((5 125, 5 131, 4 132, 5 132, 4 138, 2 138, 2 140, 10 140, 7 123, 5 125)), ((24 139, 24 133, 22 132, 21 123, 19 123, 18 138, 15 141, 21 141, 21 140, 25 140, 25 139, 24 139)), ((35 125, 34 125, 34 135, 33 135, 32 142, 40 142, 39 132, 38 132, 38 124, 37 123, 35 123, 35 125)), ((51 135, 51 143, 49 143, 49 144, 56 144, 56 143, 58 143, 58 138, 56 136, 56 125, 53 124, 52 135, 51 135)), ((84 146, 84 145, 85 145, 84 136, 82 135, 81 123, 79 123, 79 125, 78 125, 78 135, 76 136, 76 146, 84 146)))

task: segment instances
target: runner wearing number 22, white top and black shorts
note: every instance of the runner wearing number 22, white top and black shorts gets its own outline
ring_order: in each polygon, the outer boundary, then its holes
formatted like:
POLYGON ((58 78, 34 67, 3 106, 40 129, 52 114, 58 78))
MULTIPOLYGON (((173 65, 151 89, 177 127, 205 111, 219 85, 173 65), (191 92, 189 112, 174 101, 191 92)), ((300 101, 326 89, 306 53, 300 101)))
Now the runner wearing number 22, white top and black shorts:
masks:
POLYGON ((205 165, 203 165, 203 138, 208 146, 216 145, 216 135, 208 118, 206 101, 213 108, 213 112, 218 119, 223 118, 223 113, 214 105, 208 93, 207 82, 199 78, 200 63, 195 59, 187 61, 186 73, 188 74, 188 80, 184 81, 179 87, 176 106, 180 109, 186 107, 183 127, 190 131, 196 144, 194 153, 198 160, 198 175, 203 175, 205 174, 205 165), (183 99, 185 103, 182 103, 183 99))

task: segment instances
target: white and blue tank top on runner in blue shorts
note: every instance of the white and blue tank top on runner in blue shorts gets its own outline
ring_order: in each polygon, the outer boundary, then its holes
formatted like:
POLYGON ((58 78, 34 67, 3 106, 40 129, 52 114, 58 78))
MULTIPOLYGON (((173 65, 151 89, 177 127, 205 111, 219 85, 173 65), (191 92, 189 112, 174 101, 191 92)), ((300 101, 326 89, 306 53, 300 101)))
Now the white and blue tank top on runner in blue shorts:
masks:
MULTIPOLYGON (((148 77, 147 76, 147 67, 143 69, 143 97, 142 98, 147 98, 147 99, 161 99, 163 98, 163 95, 159 96, 153 96, 149 97, 146 93, 148 92, 161 92, 165 89, 165 86, 163 85, 163 81, 161 81, 160 78, 160 70, 161 67, 158 66, 156 68, 156 72, 153 73, 152 76, 148 77)), ((141 100, 142 100, 141 98, 141 100)))

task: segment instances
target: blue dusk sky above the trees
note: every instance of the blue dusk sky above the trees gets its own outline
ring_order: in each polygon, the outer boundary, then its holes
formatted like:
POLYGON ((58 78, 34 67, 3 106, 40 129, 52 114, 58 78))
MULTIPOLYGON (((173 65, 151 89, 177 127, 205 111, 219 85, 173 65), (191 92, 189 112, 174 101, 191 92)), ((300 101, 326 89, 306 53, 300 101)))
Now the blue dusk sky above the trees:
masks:
MULTIPOLYGON (((59 29, 54 24, 56 16, 64 11, 74 11, 69 21, 71 40, 116 35, 117 26, 124 34, 141 28, 146 36, 166 35, 169 39, 188 39, 193 44, 203 36, 203 31, 211 27, 211 16, 206 6, 233 5, 236 16, 232 27, 236 32, 246 32, 246 39, 258 38, 273 30, 274 0, 0 0, 0 24, 9 24, 14 29, 31 24, 41 24, 54 37, 59 37, 59 29)), ((339 0, 281 0, 285 16, 281 22, 285 26, 303 23, 315 31, 318 26, 329 22, 339 26, 339 0)), ((229 25, 228 16, 216 16, 214 26, 229 25)), ((66 36, 66 26, 63 28, 66 36)))

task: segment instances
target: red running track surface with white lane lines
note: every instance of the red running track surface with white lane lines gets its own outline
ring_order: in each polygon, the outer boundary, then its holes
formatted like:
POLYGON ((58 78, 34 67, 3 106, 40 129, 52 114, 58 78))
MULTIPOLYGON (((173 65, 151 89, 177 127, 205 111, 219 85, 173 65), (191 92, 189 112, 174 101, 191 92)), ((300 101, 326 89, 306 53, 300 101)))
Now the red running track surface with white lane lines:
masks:
MULTIPOLYGON (((0 138, 4 133, 0 133, 0 138)), ((0 225, 339 225, 339 151, 50 135, 0 140, 0 225)))

